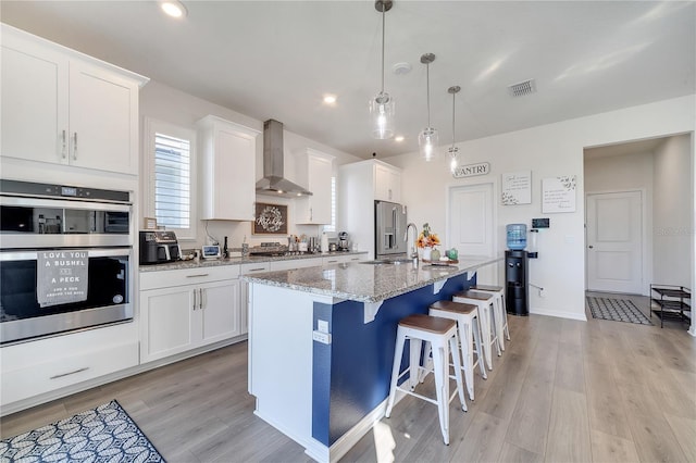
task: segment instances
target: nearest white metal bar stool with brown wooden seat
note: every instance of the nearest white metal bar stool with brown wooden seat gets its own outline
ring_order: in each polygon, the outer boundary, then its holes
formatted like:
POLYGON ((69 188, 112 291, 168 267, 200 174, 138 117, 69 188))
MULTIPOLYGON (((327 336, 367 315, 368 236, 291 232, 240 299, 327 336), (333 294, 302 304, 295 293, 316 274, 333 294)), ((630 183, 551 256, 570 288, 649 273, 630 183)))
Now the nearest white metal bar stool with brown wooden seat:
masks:
POLYGON ((464 390, 461 379, 461 368, 455 368, 455 379, 457 380, 457 391, 449 396, 449 353, 452 354, 455 365, 461 365, 459 359, 459 336, 457 335, 457 322, 448 318, 440 318, 424 314, 409 315, 399 321, 396 334, 396 349, 394 350, 394 366, 391 367, 391 384, 389 386, 389 400, 385 416, 391 415, 394 400, 397 391, 408 393, 426 402, 437 405, 439 415, 439 427, 443 431, 445 445, 449 446, 449 402, 459 393, 461 408, 465 412, 467 403, 464 402, 464 390), (399 375, 401 366, 401 356, 406 340, 410 340, 410 362, 409 366, 399 375), (437 400, 430 397, 413 392, 418 385, 421 366, 421 348, 423 341, 430 342, 433 347, 433 362, 435 367, 435 389, 437 400), (448 346, 449 345, 449 346, 448 346), (409 378, 403 381, 402 386, 397 383, 401 376, 409 374, 409 378), (403 386, 408 386, 403 387, 403 386))

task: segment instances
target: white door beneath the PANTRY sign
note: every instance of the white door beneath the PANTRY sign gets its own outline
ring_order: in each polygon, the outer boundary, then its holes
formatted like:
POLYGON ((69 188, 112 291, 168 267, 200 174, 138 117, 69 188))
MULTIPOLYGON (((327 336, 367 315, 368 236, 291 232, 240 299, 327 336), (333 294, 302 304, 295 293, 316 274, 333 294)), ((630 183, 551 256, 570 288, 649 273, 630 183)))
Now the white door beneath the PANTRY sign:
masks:
MULTIPOLYGON (((448 247, 457 248, 460 256, 493 256, 495 253, 493 184, 450 188, 448 208, 448 247)), ((496 268, 495 265, 481 268, 477 281, 496 285, 498 283, 496 268)))

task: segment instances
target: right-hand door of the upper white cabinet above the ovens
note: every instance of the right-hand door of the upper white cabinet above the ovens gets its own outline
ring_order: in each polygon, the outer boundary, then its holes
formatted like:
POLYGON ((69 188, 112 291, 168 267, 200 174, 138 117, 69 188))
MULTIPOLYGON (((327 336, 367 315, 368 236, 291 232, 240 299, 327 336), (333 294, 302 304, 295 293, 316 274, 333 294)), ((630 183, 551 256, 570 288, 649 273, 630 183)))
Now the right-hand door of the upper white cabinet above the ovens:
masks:
POLYGON ((138 87, 98 66, 70 65, 70 162, 138 173, 138 87))

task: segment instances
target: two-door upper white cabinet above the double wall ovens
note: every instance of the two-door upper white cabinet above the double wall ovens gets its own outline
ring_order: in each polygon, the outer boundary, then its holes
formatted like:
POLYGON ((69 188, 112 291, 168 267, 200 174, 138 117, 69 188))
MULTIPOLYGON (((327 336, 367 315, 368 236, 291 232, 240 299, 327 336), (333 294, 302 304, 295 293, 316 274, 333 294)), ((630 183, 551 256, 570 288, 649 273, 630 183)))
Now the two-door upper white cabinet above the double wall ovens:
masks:
POLYGON ((2 25, 2 157, 138 174, 147 78, 2 25))

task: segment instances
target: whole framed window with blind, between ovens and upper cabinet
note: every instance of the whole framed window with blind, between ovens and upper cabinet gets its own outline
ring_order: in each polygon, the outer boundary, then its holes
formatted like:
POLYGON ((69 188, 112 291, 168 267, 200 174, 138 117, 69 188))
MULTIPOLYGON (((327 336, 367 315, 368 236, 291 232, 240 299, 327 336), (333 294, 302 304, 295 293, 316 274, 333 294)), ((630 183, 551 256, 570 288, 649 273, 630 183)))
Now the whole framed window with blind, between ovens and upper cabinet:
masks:
POLYGON ((144 215, 158 226, 174 230, 178 239, 196 239, 195 146, 196 133, 159 121, 146 120, 148 168, 144 215))

